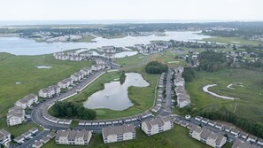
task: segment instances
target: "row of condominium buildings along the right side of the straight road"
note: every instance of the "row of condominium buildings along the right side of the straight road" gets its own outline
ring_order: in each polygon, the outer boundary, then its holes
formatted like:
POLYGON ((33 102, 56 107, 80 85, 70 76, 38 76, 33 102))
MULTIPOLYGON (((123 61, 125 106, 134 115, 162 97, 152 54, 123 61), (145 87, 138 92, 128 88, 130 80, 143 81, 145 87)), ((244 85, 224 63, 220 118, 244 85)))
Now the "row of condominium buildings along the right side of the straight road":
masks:
POLYGON ((178 68, 175 68, 174 71, 174 90, 177 96, 177 105, 179 106, 179 108, 182 108, 191 104, 190 95, 187 94, 185 90, 185 82, 182 78, 183 67, 180 66, 178 68))

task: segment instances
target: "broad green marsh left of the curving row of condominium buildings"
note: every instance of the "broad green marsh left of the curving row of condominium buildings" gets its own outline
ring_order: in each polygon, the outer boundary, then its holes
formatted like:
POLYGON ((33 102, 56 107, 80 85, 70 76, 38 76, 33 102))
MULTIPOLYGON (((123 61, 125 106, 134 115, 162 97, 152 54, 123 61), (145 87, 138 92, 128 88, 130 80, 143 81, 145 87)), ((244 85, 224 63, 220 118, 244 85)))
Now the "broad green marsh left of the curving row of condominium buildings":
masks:
MULTIPOLYGON (((52 55, 14 56, 0 61, 0 119, 20 98, 30 93, 37 94, 38 90, 57 84, 85 66, 91 66, 91 62, 61 61, 52 55), (52 67, 38 69, 35 66, 52 67)), ((1 122, 0 129, 6 126, 4 122, 1 122)), ((23 130, 23 126, 20 129, 23 130)))

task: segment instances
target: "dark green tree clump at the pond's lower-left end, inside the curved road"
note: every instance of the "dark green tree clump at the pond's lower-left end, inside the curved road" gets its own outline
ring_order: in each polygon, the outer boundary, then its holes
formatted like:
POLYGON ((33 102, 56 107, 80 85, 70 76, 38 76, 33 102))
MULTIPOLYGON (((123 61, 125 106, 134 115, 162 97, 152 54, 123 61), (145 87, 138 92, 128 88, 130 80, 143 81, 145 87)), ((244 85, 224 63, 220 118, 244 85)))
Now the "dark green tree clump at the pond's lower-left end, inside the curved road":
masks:
POLYGON ((77 118, 80 120, 94 120, 96 118, 96 112, 83 107, 82 105, 76 105, 71 102, 56 102, 51 107, 52 113, 58 118, 77 118))

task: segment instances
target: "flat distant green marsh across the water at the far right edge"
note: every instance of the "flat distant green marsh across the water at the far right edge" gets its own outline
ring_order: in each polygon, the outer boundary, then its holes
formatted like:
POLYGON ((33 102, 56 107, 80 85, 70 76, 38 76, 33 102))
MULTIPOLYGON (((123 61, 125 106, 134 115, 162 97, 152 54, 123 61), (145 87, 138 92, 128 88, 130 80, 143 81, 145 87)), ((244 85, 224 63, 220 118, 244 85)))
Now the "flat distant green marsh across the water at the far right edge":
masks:
POLYGON ((205 38, 202 41, 208 41, 208 42, 216 42, 216 43, 235 43, 238 45, 254 45, 254 46, 258 46, 259 43, 263 43, 263 42, 259 42, 259 41, 251 41, 251 40, 245 40, 244 38, 241 37, 220 37, 220 36, 214 36, 211 38, 205 38))

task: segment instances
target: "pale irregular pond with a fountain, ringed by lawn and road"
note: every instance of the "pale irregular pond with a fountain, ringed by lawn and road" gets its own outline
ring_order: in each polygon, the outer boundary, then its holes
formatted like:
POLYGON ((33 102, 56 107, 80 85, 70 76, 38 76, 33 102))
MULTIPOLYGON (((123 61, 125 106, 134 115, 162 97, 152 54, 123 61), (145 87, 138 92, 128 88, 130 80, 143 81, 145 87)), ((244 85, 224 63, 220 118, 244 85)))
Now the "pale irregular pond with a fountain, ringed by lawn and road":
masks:
POLYGON ((90 109, 111 109, 122 111, 134 105, 128 98, 128 87, 147 87, 150 84, 143 79, 141 74, 126 73, 126 80, 121 85, 120 82, 109 82, 104 84, 104 90, 97 91, 91 95, 84 107, 90 109))

